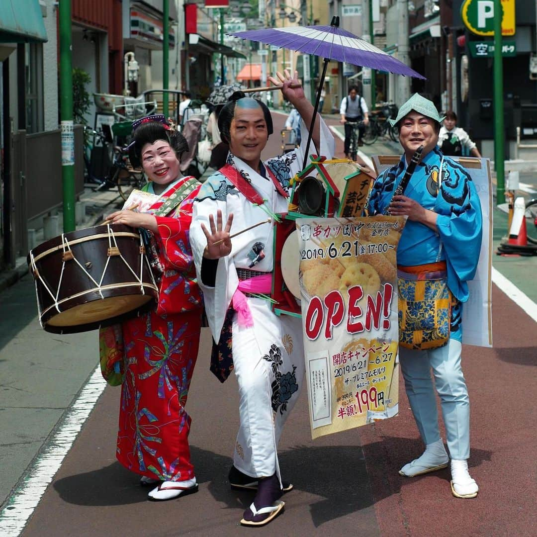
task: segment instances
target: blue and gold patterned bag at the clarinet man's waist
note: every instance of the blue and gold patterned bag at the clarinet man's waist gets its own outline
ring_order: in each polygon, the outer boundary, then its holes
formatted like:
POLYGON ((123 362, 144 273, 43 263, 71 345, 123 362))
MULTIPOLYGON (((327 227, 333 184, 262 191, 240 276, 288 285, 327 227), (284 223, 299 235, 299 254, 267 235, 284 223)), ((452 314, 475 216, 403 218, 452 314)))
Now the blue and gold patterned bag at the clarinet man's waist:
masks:
POLYGON ((398 267, 399 344, 424 351, 447 344, 454 302, 447 286, 446 263, 398 267), (411 272, 407 272, 411 270, 411 272))

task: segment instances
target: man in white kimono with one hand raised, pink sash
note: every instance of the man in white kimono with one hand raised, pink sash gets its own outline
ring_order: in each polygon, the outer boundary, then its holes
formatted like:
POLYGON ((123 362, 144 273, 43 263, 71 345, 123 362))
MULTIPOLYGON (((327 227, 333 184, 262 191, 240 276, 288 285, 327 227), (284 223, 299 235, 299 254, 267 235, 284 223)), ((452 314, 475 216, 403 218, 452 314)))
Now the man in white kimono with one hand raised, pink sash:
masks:
MULTIPOLYGON (((295 72, 278 73, 284 97, 302 117, 302 141, 313 117, 295 72), (291 87, 291 85, 298 87, 291 87)), ((269 109, 237 92, 219 116, 222 139, 229 143, 228 164, 209 177, 194 202, 190 228, 194 262, 213 339, 213 371, 221 371, 233 354, 240 403, 231 487, 257 490, 244 512, 243 525, 267 524, 283 507, 277 446, 282 427, 302 385, 304 356, 300 318, 271 311, 275 213, 286 213, 290 180, 301 171, 301 147, 262 162, 273 132, 269 109), (253 224, 262 225, 231 240, 253 224)), ((311 154, 332 157, 333 137, 317 116, 311 154)))

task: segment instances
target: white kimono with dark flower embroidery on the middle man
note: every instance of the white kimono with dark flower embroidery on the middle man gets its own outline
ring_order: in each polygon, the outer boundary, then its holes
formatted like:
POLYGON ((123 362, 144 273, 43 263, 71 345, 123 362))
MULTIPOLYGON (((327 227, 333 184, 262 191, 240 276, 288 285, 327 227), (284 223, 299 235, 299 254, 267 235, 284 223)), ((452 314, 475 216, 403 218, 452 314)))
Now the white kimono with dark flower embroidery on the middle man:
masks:
MULTIPOLYGON (((308 132, 302 123, 302 140, 308 132)), ((331 158, 335 151, 333 136, 321 120, 320 155, 331 158)), ((317 149, 310 149, 317 154, 317 149)), ((230 155, 228 162, 251 182, 266 200, 265 206, 272 213, 286 213, 288 198, 279 194, 269 177, 262 177, 241 159, 230 155)), ((289 194, 289 179, 301 171, 303 149, 265 161, 289 194)), ((274 267, 273 230, 271 222, 246 231, 231 240, 231 254, 221 258, 217 265, 214 287, 204 285, 201 280, 201 263, 206 237, 201 229, 209 226, 209 215, 222 211, 225 223, 233 213, 231 234, 248 228, 252 224, 267 220, 267 212, 248 201, 220 172, 214 173, 201 186, 194 201, 190 241, 198 282, 204 293, 205 309, 215 342, 220 339, 224 317, 237 289, 237 269, 251 269, 271 273, 274 267), (252 265, 256 252, 262 244, 264 258, 252 265), (255 247, 255 248, 254 248, 255 247)), ((245 328, 233 316, 233 362, 240 395, 241 426, 234 452, 235 467, 251 477, 268 477, 277 473, 277 446, 282 427, 293 408, 302 386, 304 376, 304 354, 302 324, 300 318, 289 315, 277 316, 271 311, 270 302, 247 297, 253 317, 253 326, 245 328)))

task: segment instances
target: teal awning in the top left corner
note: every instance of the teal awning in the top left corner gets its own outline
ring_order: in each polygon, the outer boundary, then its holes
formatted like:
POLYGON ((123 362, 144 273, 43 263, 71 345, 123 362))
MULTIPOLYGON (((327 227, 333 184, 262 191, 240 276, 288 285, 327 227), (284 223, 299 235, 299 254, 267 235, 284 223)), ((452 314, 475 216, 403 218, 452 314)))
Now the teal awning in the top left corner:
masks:
POLYGON ((0 2, 0 42, 47 41, 39 0, 0 2))

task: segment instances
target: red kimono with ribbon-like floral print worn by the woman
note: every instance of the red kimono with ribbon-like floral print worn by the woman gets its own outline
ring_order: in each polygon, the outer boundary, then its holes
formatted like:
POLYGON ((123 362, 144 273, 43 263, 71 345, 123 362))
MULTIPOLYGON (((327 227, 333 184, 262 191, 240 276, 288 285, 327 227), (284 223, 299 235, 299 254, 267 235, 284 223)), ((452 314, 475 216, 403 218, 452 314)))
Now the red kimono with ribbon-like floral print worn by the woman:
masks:
MULTIPOLYGON (((180 188, 179 180, 149 212, 180 188)), ((198 188, 166 216, 156 216, 150 234, 152 265, 159 280, 156 311, 122 325, 126 372, 121 387, 117 458, 129 470, 162 481, 194 476, 185 410, 198 355, 202 299, 188 228, 198 188)))

